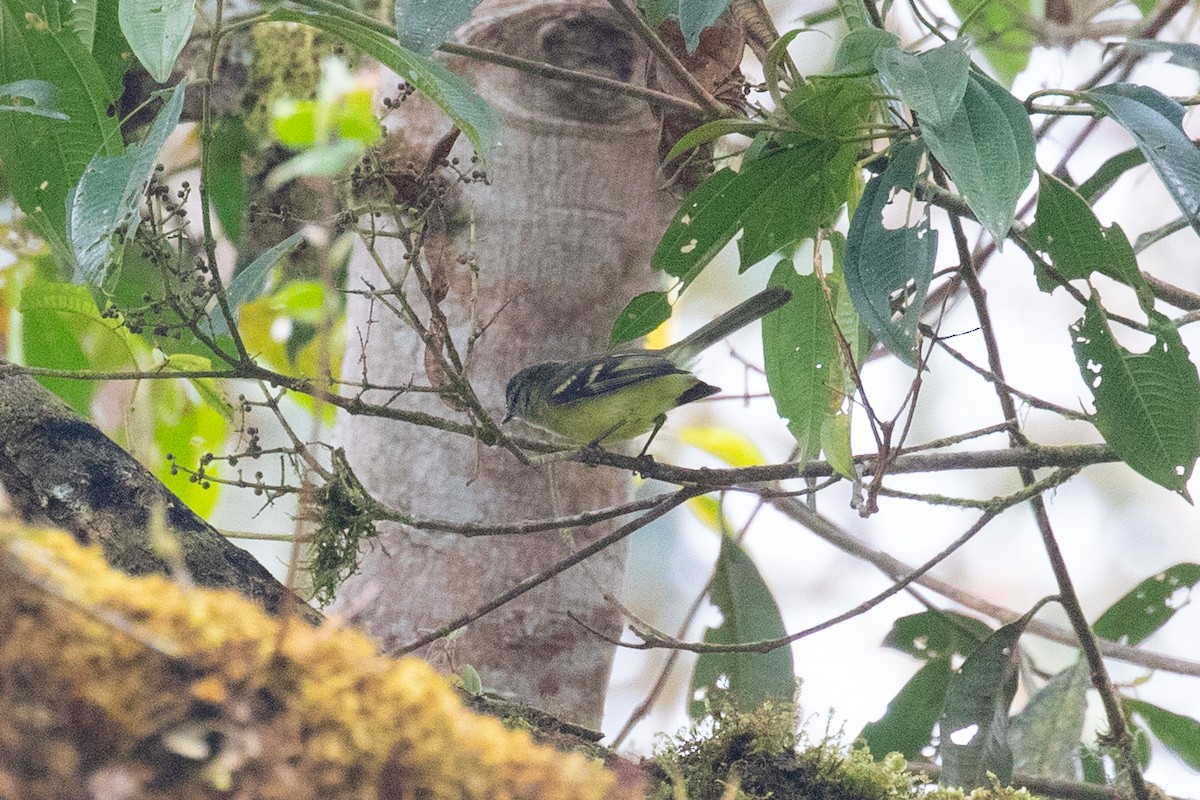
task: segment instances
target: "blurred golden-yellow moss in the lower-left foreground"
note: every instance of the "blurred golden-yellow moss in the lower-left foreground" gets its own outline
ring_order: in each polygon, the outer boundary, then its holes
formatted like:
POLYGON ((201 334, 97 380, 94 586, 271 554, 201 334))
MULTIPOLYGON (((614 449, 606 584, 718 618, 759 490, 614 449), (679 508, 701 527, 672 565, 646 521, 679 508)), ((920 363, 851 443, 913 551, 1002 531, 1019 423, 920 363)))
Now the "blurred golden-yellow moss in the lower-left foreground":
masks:
MULTIPOLYGON (((47 685, 102 710, 130 752, 197 704, 236 700, 260 706, 256 721, 295 740, 294 763, 311 768, 311 788, 328 798, 376 796, 380 780, 390 782, 388 796, 431 800, 617 792, 598 763, 464 710, 427 664, 382 657, 355 631, 277 620, 229 591, 131 578, 56 531, 0 524, 0 546, 65 612, 18 613, 0 626, 0 670, 36 663, 47 685)), ((244 753, 226 777, 236 786, 239 769, 254 763, 244 753)))

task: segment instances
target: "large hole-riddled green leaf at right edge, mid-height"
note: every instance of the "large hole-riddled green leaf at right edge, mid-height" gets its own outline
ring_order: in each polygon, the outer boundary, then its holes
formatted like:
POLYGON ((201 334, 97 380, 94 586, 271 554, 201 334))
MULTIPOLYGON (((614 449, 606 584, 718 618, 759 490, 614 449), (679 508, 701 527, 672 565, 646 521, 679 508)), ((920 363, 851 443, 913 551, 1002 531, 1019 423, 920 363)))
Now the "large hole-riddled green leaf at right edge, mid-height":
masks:
POLYGON ((1178 331, 1148 311, 1154 343, 1142 354, 1120 344, 1093 297, 1072 325, 1075 361, 1092 390, 1092 419, 1134 470, 1190 503, 1187 483, 1200 455, 1200 379, 1178 331))

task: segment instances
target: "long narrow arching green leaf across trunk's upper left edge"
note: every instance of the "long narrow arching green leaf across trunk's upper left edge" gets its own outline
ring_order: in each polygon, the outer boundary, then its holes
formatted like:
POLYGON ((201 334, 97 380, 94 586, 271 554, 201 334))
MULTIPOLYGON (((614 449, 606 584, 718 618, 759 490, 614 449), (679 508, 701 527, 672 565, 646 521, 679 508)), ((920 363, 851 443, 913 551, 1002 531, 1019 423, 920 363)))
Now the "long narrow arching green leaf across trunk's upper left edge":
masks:
POLYGON ((301 23, 334 34, 396 72, 425 95, 463 132, 480 161, 487 162, 499 144, 500 121, 467 80, 431 59, 400 47, 394 41, 352 20, 316 11, 276 8, 272 19, 301 23))

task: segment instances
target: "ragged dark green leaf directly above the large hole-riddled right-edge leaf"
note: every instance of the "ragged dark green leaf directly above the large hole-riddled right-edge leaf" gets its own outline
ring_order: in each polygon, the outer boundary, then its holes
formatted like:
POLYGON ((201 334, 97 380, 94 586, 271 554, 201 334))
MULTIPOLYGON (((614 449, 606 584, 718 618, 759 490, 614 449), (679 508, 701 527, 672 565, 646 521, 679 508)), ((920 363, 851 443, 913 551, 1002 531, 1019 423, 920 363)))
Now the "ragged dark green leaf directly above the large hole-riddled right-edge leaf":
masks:
MULTIPOLYGON (((1102 227, 1087 201, 1049 173, 1040 173, 1038 211, 1028 237, 1067 281, 1086 281, 1092 272, 1099 272, 1145 295, 1144 303, 1153 302, 1121 227, 1102 227)), ((1043 291, 1058 285, 1038 264, 1034 273, 1043 291)))

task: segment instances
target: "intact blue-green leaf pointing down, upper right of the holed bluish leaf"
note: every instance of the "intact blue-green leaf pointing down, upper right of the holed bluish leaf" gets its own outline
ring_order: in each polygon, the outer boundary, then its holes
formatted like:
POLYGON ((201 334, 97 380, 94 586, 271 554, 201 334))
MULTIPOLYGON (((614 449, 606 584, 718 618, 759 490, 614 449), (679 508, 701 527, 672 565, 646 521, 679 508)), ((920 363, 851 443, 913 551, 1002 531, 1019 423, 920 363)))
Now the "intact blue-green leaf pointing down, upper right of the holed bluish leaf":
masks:
POLYGON ((972 71, 958 113, 942 125, 922 120, 920 133, 979 224, 1002 245, 1037 167, 1025 106, 972 71))

